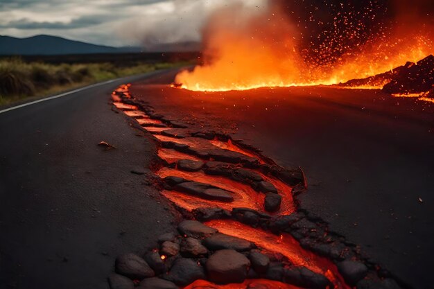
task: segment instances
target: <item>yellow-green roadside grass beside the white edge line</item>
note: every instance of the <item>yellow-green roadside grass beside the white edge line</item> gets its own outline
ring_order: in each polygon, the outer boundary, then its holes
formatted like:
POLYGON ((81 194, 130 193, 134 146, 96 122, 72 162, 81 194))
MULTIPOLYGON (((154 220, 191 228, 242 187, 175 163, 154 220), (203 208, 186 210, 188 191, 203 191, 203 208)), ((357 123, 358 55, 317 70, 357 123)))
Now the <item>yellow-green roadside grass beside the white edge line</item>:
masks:
POLYGON ((20 58, 2 59, 0 60, 0 106, 103 80, 179 67, 184 64, 186 62, 157 64, 135 62, 119 67, 110 63, 46 64, 24 62, 20 58))

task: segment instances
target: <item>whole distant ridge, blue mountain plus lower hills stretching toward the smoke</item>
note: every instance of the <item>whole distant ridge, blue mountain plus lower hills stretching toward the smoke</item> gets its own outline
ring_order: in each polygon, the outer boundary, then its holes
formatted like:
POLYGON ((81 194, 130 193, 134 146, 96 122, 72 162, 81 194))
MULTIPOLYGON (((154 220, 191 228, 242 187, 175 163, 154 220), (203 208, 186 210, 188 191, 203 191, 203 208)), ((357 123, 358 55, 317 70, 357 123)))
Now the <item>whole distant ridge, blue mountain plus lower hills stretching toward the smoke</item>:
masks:
POLYGON ((138 53, 146 52, 185 52, 199 51, 197 42, 157 44, 148 49, 125 46, 112 47, 67 40, 58 36, 36 35, 16 38, 0 35, 0 55, 67 55, 93 53, 138 53))

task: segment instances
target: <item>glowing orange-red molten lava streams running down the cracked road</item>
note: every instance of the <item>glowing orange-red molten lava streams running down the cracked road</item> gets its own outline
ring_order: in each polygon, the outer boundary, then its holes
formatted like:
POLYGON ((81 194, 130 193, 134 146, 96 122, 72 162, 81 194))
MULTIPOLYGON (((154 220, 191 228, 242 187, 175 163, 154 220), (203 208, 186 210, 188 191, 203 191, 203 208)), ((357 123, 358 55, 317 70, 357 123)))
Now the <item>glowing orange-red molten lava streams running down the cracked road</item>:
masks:
MULTIPOLYGON (((292 172, 289 178, 288 175, 284 175, 284 168, 277 168, 279 173, 272 175, 270 168, 275 167, 275 164, 270 159, 238 146, 230 138, 221 139, 215 135, 211 137, 209 132, 198 134, 191 133, 188 129, 174 130, 171 121, 166 121, 161 116, 159 119, 154 119, 152 110, 149 110, 150 114, 141 105, 135 105, 130 94, 125 96, 125 92, 128 92, 128 87, 121 87, 114 91, 112 96, 114 106, 135 119, 144 130, 152 133, 162 144, 158 155, 164 161, 164 166, 157 168, 155 173, 165 182, 162 195, 176 207, 193 214, 198 209, 211 208, 223 209, 227 212, 234 209, 235 211, 250 210, 250 213, 255 212, 257 216, 268 219, 272 216, 295 216, 297 212, 297 205, 293 199, 295 188, 288 182, 294 182, 295 178, 299 186, 304 185, 304 176, 299 168, 288 170, 292 172), (120 100, 124 100, 125 103, 120 100), (184 184, 184 186, 177 184, 184 184), (206 195, 209 189, 214 190, 214 193, 230 195, 231 198, 214 200, 212 198, 215 195, 211 194, 210 199, 210 195, 206 195), (272 210, 266 204, 266 198, 270 195, 281 198, 278 207, 272 210)), ((285 270, 306 268, 312 274, 328 279, 333 288, 349 288, 332 261, 306 251, 290 234, 272 234, 270 231, 243 225, 237 220, 227 218, 209 220, 205 225, 217 229, 222 234, 254 243, 263 254, 276 256, 276 260, 283 262, 285 270)), ((161 257, 162 260, 166 259, 165 255, 161 257)), ((258 278, 246 279, 243 283, 216 285, 209 281, 198 280, 185 288, 202 288, 201 286, 220 289, 256 288, 254 286, 300 288, 291 282, 281 281, 258 278)))

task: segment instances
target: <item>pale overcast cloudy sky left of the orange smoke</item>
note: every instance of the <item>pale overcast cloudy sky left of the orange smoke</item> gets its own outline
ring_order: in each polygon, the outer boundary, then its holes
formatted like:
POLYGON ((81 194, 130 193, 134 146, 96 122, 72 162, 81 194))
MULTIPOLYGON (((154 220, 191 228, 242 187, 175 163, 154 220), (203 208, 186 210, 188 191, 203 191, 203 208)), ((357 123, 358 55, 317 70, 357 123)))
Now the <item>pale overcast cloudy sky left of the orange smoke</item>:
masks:
POLYGON ((0 35, 48 34, 110 46, 198 41, 207 15, 235 2, 266 5, 266 0, 0 0, 0 35))

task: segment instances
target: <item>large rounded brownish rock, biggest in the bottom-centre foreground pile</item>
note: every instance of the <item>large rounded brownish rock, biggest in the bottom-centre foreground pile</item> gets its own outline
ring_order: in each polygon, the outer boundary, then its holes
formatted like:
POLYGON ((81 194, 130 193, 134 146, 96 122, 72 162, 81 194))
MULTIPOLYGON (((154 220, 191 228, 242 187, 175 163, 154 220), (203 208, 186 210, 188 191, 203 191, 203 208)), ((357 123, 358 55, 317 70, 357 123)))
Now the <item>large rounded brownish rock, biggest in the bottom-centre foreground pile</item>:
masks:
POLYGON ((206 267, 208 278, 214 283, 241 283, 247 276, 250 261, 232 249, 223 249, 209 257, 206 267))

